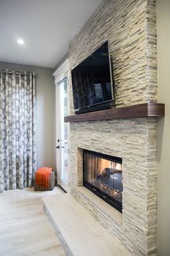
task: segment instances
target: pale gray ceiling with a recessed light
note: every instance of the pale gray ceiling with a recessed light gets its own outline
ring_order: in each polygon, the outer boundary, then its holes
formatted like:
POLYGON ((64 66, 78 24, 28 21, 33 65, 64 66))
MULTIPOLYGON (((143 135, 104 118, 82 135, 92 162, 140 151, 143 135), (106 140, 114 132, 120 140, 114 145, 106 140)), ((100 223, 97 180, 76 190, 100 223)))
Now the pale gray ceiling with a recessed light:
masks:
POLYGON ((102 0, 0 0, 0 61, 55 67, 102 0), (22 38, 24 45, 17 39, 22 38))

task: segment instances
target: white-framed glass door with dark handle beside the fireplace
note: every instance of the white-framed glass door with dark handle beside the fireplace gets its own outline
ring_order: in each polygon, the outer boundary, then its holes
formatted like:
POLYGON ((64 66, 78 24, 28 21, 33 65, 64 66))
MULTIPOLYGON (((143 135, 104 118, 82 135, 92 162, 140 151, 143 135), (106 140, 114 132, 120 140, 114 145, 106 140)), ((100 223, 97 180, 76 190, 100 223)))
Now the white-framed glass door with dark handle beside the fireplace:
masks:
POLYGON ((68 192, 68 123, 64 122, 64 116, 68 116, 68 80, 58 83, 58 118, 57 118, 57 166, 58 184, 68 192))

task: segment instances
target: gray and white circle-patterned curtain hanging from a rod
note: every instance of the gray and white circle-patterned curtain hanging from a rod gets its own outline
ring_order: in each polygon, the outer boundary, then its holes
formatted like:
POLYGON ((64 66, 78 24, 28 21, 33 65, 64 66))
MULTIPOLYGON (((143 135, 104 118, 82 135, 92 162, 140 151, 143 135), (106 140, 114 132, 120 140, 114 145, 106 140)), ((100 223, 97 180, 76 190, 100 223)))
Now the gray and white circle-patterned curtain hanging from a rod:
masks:
POLYGON ((32 187, 35 170, 35 74, 1 71, 0 192, 32 187))

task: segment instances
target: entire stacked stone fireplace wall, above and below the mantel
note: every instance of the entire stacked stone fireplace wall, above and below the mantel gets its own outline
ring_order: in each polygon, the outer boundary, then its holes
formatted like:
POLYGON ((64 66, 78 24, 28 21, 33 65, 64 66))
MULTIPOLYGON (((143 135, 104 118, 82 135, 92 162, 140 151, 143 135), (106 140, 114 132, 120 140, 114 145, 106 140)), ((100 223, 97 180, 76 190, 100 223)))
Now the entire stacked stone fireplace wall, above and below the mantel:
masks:
MULTIPOLYGON (((109 40, 115 105, 156 102, 155 1, 102 1, 70 43, 71 69, 104 40, 109 40)), ((71 123, 70 186, 73 197, 130 252, 156 255, 155 118, 71 123), (122 158, 122 214, 82 187, 83 149, 122 158)))

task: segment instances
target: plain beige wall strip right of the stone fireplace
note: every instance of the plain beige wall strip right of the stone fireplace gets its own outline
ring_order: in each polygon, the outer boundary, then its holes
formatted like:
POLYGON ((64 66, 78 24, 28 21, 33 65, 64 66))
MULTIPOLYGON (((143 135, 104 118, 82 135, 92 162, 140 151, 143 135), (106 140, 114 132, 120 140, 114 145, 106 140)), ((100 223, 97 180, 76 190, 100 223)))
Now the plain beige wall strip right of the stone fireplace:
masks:
POLYGON ((156 0, 158 35, 158 102, 165 103, 158 119, 158 256, 170 255, 170 1, 156 0))

